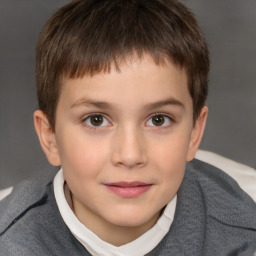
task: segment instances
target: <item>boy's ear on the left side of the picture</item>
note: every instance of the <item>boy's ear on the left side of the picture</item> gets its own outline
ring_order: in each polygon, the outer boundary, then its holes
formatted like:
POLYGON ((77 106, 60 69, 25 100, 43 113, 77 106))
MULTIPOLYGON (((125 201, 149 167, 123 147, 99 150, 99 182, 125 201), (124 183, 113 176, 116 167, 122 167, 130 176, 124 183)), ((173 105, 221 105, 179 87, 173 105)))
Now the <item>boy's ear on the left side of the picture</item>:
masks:
POLYGON ((34 112, 34 126, 41 147, 50 164, 60 165, 59 151, 56 143, 55 133, 51 128, 48 118, 41 110, 34 112))

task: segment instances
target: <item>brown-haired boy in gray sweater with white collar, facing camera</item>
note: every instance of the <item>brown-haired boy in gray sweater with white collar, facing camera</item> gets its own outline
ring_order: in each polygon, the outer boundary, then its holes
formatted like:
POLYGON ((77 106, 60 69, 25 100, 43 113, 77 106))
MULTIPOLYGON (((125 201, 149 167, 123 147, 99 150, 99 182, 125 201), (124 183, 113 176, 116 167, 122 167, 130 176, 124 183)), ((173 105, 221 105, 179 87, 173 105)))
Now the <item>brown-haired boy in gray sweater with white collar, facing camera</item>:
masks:
POLYGON ((0 255, 253 255, 255 203, 193 160, 208 71, 175 0, 57 11, 38 42, 34 123, 61 169, 1 202, 0 255))

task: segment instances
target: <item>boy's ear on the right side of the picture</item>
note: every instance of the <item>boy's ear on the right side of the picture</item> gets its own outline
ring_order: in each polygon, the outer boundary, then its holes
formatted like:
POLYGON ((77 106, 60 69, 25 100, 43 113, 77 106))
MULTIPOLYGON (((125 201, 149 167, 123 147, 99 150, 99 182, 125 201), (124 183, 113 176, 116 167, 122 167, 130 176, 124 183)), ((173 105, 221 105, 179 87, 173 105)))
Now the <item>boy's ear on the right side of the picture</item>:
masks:
POLYGON ((204 134, 207 116, 208 116, 208 108, 204 106, 200 112, 199 117, 197 118, 194 124, 193 130, 191 133, 189 150, 187 154, 188 162, 195 157, 196 151, 199 148, 199 145, 201 143, 201 140, 204 134))

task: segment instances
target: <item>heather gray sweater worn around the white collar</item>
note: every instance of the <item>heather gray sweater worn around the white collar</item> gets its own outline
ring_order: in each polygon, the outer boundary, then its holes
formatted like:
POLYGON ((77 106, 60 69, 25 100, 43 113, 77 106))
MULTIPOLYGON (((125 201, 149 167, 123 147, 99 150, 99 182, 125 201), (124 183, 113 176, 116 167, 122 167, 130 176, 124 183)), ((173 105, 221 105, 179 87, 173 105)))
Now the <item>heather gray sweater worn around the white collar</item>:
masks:
MULTIPOLYGON (((0 202, 0 256, 90 255, 70 233, 48 182, 25 181, 0 202)), ((253 256, 256 204, 215 167, 193 160, 172 226, 149 256, 253 256)), ((131 255, 132 256, 132 255, 131 255)))

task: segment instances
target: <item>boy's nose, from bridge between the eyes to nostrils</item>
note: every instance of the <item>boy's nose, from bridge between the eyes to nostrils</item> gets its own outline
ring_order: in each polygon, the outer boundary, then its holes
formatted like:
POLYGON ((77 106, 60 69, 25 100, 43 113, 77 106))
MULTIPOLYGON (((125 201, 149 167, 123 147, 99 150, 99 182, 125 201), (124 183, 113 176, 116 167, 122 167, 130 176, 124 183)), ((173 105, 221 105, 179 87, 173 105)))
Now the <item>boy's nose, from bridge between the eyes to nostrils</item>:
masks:
POLYGON ((147 164, 146 145, 139 129, 126 127, 119 129, 114 136, 113 165, 132 169, 147 164))

